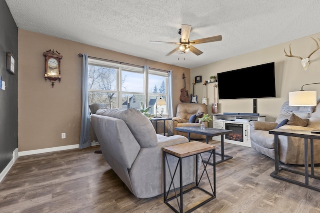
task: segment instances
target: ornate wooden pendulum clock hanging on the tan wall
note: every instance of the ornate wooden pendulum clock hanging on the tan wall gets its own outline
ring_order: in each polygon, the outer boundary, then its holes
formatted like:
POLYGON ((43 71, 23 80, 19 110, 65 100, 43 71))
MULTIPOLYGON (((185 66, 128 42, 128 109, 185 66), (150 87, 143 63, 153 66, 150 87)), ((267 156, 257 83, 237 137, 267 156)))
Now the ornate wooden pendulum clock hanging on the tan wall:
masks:
POLYGON ((49 79, 51 81, 52 88, 56 80, 61 81, 61 59, 62 55, 54 49, 47 50, 43 52, 45 59, 45 70, 44 70, 44 79, 49 79))

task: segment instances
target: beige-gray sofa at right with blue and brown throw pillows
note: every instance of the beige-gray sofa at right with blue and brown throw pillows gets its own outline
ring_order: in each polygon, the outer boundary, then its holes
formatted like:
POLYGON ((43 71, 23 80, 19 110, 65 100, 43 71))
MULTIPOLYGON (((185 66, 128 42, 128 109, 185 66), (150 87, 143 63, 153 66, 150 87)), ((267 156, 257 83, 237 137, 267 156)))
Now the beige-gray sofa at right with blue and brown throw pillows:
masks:
MULTIPOLYGON (((268 133, 284 119, 290 120, 292 113, 307 119, 306 126, 283 125, 279 129, 320 130, 320 104, 314 107, 289 106, 285 102, 275 122, 250 121, 251 147, 257 152, 274 159, 274 135, 268 133)), ((292 120, 292 119, 291 119, 292 120)), ((291 123, 294 124, 294 123, 291 123)), ((279 136, 279 160, 284 164, 304 164, 304 142, 302 138, 279 136)), ((310 144, 309 144, 310 146, 310 144)), ((310 149, 308 149, 310 151, 310 149)), ((320 163, 320 141, 314 140, 314 163, 320 163)), ((308 155, 310 157, 310 154, 308 155)))

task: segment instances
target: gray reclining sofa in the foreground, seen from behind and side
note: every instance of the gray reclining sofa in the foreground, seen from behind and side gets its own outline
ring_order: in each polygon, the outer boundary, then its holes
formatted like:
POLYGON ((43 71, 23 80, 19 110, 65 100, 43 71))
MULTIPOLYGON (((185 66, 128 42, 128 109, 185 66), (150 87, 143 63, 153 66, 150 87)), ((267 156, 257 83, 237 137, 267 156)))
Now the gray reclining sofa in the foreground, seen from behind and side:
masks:
MULTIPOLYGON (((136 109, 99 109, 91 115, 91 122, 105 161, 130 192, 137 198, 162 194, 161 148, 188 142, 187 138, 157 135, 150 120, 136 109)), ((168 156, 168 161, 173 172, 177 158, 168 156)), ((195 157, 184 158, 182 166, 183 185, 194 182, 195 157)), ((174 185, 179 186, 179 174, 176 175, 174 185)), ((168 170, 166 181, 168 188, 168 170)))

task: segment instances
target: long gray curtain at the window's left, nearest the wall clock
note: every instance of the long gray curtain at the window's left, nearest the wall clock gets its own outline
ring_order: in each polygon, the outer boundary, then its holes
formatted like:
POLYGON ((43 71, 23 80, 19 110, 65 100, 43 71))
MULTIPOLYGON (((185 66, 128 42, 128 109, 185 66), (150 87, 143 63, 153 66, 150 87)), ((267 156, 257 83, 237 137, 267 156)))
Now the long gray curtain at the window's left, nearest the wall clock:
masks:
POLYGON ((82 56, 82 116, 79 149, 91 146, 90 115, 88 102, 88 54, 82 56))

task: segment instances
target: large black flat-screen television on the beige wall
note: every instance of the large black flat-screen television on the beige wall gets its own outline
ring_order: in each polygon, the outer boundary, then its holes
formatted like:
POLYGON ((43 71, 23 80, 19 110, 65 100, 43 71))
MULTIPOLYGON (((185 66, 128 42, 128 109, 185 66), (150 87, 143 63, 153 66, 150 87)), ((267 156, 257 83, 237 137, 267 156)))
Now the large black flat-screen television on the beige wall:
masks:
POLYGON ((275 97, 274 62, 217 73, 219 99, 275 97))

